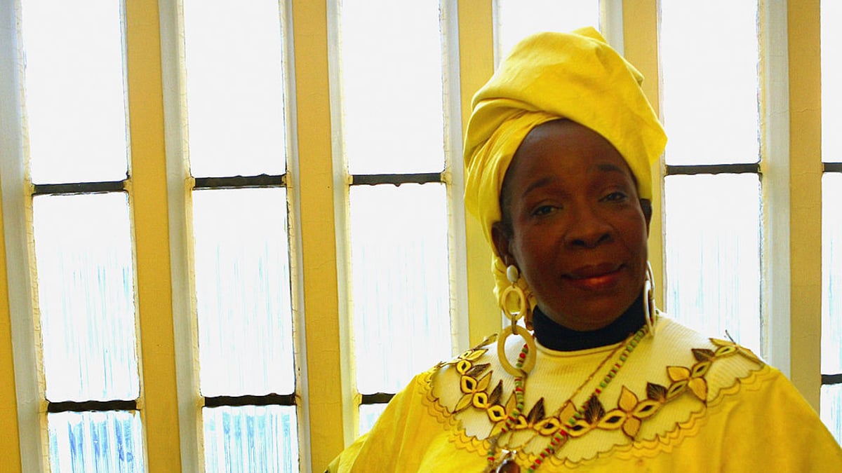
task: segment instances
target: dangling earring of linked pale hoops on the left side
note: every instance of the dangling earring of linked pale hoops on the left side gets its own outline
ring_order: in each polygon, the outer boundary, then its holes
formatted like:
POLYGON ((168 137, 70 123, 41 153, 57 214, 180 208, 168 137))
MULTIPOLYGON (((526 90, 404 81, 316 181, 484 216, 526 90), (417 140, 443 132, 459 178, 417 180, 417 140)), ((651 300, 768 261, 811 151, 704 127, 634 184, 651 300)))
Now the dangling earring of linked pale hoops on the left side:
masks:
POLYGON ((500 364, 503 366, 503 369, 505 369, 509 375, 513 375, 514 377, 526 377, 526 375, 529 375, 530 371, 535 368, 535 338, 532 337, 532 334, 528 330, 518 325, 518 321, 521 318, 524 318, 525 321, 531 319, 529 301, 526 300, 524 291, 520 289, 520 286, 517 284, 518 279, 520 279, 520 273, 514 264, 509 264, 506 268, 506 279, 509 279, 509 283, 511 284, 503 290, 502 294, 500 294, 498 304, 500 306, 500 310, 503 311, 503 315, 509 319, 509 322, 511 322, 511 325, 504 328, 503 332, 501 332, 499 337, 497 337, 497 356, 500 359, 500 364), (512 299, 513 297, 514 300, 512 299), (512 306, 516 306, 517 311, 513 312, 511 310, 512 306), (508 338, 509 335, 520 335, 520 337, 522 337, 526 342, 527 350, 525 351, 525 359, 523 359, 523 363, 520 364, 520 367, 511 364, 509 359, 506 357, 506 338, 508 338))

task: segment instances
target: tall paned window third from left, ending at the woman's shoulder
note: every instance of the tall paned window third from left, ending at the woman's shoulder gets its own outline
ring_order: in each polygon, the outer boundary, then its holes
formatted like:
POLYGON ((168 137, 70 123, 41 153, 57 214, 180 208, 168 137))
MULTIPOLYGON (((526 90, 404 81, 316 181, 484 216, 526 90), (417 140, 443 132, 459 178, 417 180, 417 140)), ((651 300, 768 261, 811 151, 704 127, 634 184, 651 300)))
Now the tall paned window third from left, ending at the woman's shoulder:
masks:
MULTIPOLYGON (((453 116, 452 5, 338 3, 337 168, 349 183, 348 305, 359 429, 411 377, 460 345, 454 226, 461 210, 453 116), (451 216, 452 215, 452 216, 451 216), (456 334, 454 337, 452 334, 456 334)), ((461 273, 460 273, 461 274, 461 273)), ((464 348, 466 342, 462 342, 464 348)))

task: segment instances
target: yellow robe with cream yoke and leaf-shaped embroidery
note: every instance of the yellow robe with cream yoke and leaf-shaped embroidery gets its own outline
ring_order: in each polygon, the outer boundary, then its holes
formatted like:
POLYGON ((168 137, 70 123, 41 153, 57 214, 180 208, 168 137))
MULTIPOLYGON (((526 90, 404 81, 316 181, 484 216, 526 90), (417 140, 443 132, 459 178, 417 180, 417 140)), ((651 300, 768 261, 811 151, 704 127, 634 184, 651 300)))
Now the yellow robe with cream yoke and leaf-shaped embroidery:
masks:
MULTIPOLYGON (((507 344, 510 360, 521 347, 507 344)), ((842 449, 813 409, 747 349, 661 317, 655 337, 600 388, 615 348, 538 346, 522 415, 498 440, 522 471, 842 471, 842 449), (579 385, 572 401, 587 412, 568 422, 558 410, 579 385), (547 454, 562 424, 564 441, 547 454)), ((496 353, 490 343, 417 375, 328 471, 481 472, 514 407, 514 380, 496 353)))

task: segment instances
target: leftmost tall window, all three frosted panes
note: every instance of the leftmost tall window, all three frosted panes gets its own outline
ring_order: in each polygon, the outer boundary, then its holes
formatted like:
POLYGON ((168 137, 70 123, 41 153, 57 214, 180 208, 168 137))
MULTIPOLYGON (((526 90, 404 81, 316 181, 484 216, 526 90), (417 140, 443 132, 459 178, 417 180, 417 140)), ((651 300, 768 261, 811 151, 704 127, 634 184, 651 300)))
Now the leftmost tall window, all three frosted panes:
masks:
POLYGON ((120 3, 21 6, 29 313, 47 461, 143 471, 120 3))

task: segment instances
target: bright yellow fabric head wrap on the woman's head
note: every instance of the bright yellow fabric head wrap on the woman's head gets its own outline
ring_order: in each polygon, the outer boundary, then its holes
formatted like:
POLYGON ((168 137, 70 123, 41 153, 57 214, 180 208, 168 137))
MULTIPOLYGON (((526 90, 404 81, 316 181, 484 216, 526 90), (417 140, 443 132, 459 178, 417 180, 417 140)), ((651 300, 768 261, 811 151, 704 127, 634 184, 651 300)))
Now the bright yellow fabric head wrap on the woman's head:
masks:
MULTIPOLYGON (((565 118, 599 133, 626 159, 640 198, 652 199, 650 167, 667 137, 642 80, 593 28, 540 33, 514 46, 474 95, 465 137, 465 205, 488 242, 501 218, 499 194, 514 151, 547 121, 565 118)), ((509 282, 496 256, 493 271, 499 293, 509 282)))

